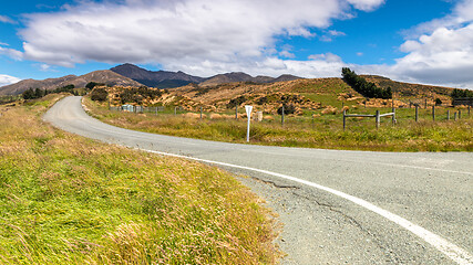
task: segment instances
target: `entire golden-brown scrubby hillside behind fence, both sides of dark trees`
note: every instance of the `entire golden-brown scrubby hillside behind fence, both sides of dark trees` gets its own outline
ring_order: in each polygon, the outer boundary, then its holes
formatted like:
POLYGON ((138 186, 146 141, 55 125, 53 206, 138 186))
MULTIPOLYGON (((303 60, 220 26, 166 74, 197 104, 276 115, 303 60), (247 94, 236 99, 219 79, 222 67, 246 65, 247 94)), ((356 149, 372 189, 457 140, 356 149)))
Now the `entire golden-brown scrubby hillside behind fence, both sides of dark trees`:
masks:
MULTIPOLYGON (((233 73, 236 78, 250 78, 244 73, 233 73)), ((220 81, 232 81, 232 78, 220 75, 220 81)), ((265 114, 276 114, 282 104, 292 105, 295 115, 304 115, 307 112, 327 109, 327 112, 338 112, 341 107, 390 107, 392 104, 397 108, 411 107, 414 104, 424 106, 436 105, 435 99, 440 98, 443 104, 450 105, 452 98, 449 96, 452 88, 433 87, 419 84, 407 84, 390 81, 383 77, 371 77, 370 82, 377 81, 381 86, 394 87, 394 102, 391 98, 366 98, 347 85, 341 78, 312 78, 294 80, 275 83, 255 82, 232 82, 215 85, 189 84, 182 87, 165 89, 160 97, 147 98, 142 102, 130 102, 131 104, 142 103, 145 106, 164 105, 182 106, 186 110, 197 112, 200 107, 205 112, 225 113, 234 109, 235 106, 254 105, 265 114), (409 94, 408 94, 409 93, 409 94)), ((116 95, 122 94, 121 88, 114 89, 116 95)), ((140 98, 140 97, 137 97, 140 98)), ((141 97, 143 98, 143 97, 141 97)), ((119 102, 120 98, 116 98, 119 102)))

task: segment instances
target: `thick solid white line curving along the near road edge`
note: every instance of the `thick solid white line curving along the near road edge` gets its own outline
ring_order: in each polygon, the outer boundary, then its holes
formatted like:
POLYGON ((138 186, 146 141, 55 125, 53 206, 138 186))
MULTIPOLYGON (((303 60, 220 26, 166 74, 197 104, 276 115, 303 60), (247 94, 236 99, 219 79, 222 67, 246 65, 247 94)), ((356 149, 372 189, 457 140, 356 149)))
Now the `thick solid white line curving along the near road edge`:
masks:
POLYGON ((256 168, 249 168, 249 167, 244 167, 244 166, 238 166, 238 165, 233 165, 233 163, 226 163, 226 162, 218 162, 218 161, 213 161, 213 160, 206 160, 206 159, 199 159, 199 158, 193 158, 193 157, 186 157, 186 156, 181 156, 181 155, 175 155, 175 153, 169 153, 169 152, 162 152, 162 151, 155 151, 155 150, 146 150, 146 149, 140 149, 143 151, 147 151, 147 152, 152 152, 152 153, 157 153, 157 155, 162 155, 162 156, 167 156, 167 157, 176 157, 176 158, 184 158, 184 159, 188 159, 188 160, 194 160, 194 161, 199 161, 199 162, 206 162, 206 163, 213 163, 213 165, 219 165, 219 166, 224 166, 224 167, 229 167, 229 168, 237 168, 237 169, 245 169, 245 170, 250 170, 250 171, 255 171, 255 172, 259 172, 259 173, 265 173, 265 174, 269 174, 269 176, 274 176, 274 177, 278 177, 281 179, 286 179, 286 180, 290 180, 294 182, 298 182, 301 184, 306 184, 319 190, 323 190, 327 192, 330 192, 335 195, 341 197, 348 201, 351 201, 364 209, 368 209, 385 219, 388 219, 389 221, 404 227, 405 230, 410 231, 411 233, 415 234, 417 236, 421 237, 422 240, 424 240, 426 243, 431 244, 432 246, 434 246, 436 250, 439 250, 440 252, 442 252, 443 254, 445 254, 446 256, 449 256, 451 259, 453 259, 454 262, 456 262, 457 264, 461 265, 472 265, 473 264, 473 256, 466 252, 465 250, 456 246, 453 243, 448 242, 446 240, 444 240, 443 237, 394 214, 391 213, 384 209, 381 209, 368 201, 364 201, 363 199, 347 194, 345 192, 325 187, 325 186, 320 186, 307 180, 301 180, 295 177, 290 177, 287 174, 281 174, 281 173, 276 173, 276 172, 271 172, 268 170, 263 170, 263 169, 256 169, 256 168))

